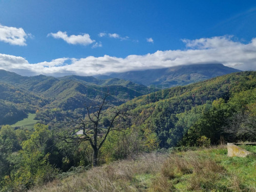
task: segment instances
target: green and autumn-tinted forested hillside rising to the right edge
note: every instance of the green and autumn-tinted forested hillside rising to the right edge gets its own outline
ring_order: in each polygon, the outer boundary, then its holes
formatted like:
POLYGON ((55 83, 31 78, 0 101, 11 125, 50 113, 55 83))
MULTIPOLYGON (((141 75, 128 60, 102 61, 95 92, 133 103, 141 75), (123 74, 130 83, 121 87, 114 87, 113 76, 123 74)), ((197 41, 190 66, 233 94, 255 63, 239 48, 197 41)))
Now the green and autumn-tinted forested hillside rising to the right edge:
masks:
POLYGON ((223 131, 237 114, 255 115, 255 102, 256 72, 239 72, 151 93, 123 106, 138 117, 133 126, 154 133, 159 147, 168 148, 196 145, 203 136, 212 144, 220 143, 221 136, 255 139, 223 131))

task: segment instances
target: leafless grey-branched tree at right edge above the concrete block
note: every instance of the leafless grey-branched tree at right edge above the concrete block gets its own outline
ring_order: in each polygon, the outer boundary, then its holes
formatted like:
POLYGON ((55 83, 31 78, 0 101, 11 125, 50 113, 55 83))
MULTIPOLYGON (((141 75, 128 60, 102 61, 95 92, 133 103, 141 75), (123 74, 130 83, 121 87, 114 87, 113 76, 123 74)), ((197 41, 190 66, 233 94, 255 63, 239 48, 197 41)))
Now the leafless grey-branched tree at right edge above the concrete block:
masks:
POLYGON ((234 114, 224 131, 237 139, 256 139, 256 120, 249 112, 234 114))

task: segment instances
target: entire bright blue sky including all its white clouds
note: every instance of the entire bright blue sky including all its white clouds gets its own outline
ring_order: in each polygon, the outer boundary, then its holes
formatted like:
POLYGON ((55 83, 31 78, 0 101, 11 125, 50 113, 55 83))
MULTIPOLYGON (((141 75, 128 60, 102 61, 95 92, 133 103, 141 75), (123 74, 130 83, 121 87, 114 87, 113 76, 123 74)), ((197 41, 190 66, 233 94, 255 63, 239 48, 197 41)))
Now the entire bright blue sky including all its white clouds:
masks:
POLYGON ((256 1, 0 1, 0 69, 95 75, 221 62, 256 70, 256 1))

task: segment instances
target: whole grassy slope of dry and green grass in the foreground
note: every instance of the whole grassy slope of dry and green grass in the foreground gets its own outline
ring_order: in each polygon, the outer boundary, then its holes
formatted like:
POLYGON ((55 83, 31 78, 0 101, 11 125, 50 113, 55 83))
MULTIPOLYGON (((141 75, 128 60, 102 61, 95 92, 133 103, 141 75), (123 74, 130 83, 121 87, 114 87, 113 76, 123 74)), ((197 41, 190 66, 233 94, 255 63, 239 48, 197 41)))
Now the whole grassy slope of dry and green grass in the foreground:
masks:
POLYGON ((31 191, 256 191, 255 165, 255 156, 227 157, 226 147, 152 153, 66 173, 31 191))

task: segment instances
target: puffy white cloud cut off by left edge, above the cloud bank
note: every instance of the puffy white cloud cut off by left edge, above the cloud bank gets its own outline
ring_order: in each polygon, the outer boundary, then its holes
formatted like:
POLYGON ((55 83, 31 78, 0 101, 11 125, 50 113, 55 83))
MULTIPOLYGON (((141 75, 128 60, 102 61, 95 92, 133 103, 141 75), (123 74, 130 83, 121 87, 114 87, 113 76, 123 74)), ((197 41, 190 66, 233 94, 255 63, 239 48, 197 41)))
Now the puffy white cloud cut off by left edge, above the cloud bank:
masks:
POLYGON ((0 24, 0 41, 11 45, 26 46, 26 38, 32 36, 26 34, 23 28, 7 27, 0 24))

